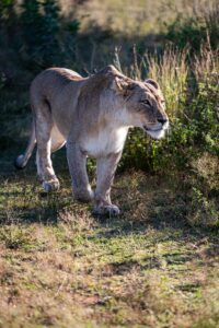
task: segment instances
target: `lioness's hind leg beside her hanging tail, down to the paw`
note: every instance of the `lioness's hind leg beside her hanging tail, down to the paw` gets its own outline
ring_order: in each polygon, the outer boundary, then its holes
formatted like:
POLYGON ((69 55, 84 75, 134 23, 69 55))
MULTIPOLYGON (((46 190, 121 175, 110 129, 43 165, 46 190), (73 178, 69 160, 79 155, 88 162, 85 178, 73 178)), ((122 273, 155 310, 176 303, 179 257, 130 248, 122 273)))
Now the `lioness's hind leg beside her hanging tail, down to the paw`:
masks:
POLYGON ((39 179, 45 191, 59 188, 59 180, 53 168, 50 159, 51 152, 51 129, 54 126, 50 108, 46 102, 34 105, 36 119, 36 165, 39 179))

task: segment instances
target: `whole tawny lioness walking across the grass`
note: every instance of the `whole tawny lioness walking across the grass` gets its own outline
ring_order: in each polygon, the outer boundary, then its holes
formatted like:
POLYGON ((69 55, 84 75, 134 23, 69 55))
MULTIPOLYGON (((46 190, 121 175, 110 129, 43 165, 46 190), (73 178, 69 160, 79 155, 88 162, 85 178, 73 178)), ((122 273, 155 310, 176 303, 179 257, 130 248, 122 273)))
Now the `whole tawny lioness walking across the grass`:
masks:
POLYGON ((90 78, 64 68, 39 73, 31 85, 32 134, 23 168, 37 143, 37 174, 46 191, 59 188, 50 153, 67 142, 67 159, 74 198, 94 199, 94 213, 118 214, 111 202, 111 185, 130 127, 140 127, 160 139, 169 126, 158 83, 131 80, 113 66, 90 78), (96 159, 96 189, 87 175, 87 156, 96 159))

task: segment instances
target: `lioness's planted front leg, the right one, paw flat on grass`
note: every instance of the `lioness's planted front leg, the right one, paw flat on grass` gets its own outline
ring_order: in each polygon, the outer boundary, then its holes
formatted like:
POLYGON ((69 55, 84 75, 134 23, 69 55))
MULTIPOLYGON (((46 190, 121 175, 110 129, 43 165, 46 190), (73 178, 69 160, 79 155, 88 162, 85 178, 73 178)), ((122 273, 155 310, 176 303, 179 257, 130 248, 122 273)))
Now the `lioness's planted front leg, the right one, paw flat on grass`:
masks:
POLYGON ((100 157, 96 161, 96 190, 94 194, 94 214, 118 215, 117 206, 111 202, 111 185, 122 153, 100 157))

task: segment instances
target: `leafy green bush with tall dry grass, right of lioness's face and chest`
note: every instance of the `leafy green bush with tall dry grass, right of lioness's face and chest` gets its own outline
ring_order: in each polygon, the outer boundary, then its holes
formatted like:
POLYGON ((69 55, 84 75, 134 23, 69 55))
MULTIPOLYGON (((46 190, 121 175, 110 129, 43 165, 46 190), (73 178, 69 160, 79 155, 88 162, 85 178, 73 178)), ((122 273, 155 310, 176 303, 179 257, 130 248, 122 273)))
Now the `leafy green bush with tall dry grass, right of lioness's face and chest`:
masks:
POLYGON ((149 58, 149 77, 160 82, 171 128, 166 139, 160 141, 146 138, 139 130, 132 131, 125 149, 124 166, 132 164, 161 173, 166 167, 186 169, 204 152, 218 155, 219 74, 217 54, 211 51, 205 49, 205 56, 196 58, 195 81, 193 75, 188 77, 185 51, 168 49, 162 59, 149 58), (206 66, 208 55, 212 62, 206 66), (191 93, 195 84, 196 91, 191 93))

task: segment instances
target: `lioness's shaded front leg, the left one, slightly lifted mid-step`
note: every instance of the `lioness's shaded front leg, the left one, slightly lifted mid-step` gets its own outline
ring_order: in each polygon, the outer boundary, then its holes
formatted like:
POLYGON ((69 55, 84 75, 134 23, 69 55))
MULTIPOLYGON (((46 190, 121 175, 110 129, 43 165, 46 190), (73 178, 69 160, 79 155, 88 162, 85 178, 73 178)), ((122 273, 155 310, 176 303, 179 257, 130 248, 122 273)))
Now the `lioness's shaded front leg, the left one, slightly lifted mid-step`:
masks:
POLYGON ((80 148, 67 142, 67 159, 72 180, 73 196, 77 200, 88 202, 93 199, 93 191, 87 174, 87 156, 80 148))

